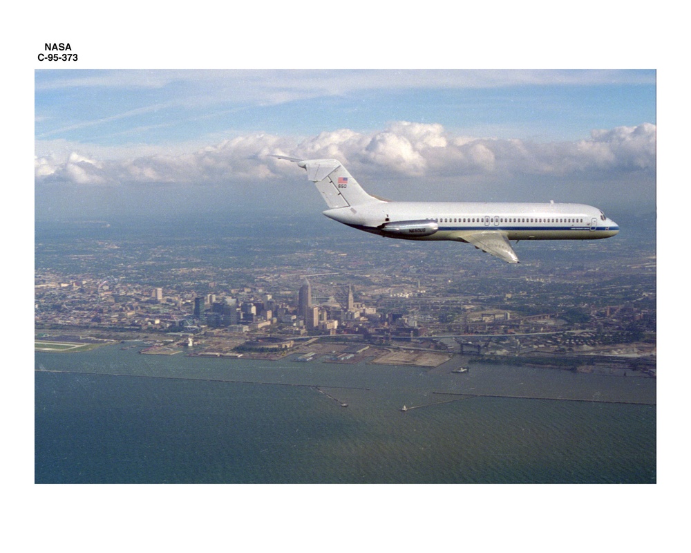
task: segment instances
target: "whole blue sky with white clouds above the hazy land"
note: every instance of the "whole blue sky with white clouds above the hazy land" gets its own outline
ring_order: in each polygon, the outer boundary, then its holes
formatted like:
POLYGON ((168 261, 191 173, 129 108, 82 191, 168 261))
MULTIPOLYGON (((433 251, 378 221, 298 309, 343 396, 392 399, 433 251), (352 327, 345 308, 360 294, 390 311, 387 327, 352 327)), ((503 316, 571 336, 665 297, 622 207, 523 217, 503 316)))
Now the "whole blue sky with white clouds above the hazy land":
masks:
POLYGON ((656 72, 35 72, 37 218, 319 207, 271 153, 337 158, 393 199, 652 212, 656 72))

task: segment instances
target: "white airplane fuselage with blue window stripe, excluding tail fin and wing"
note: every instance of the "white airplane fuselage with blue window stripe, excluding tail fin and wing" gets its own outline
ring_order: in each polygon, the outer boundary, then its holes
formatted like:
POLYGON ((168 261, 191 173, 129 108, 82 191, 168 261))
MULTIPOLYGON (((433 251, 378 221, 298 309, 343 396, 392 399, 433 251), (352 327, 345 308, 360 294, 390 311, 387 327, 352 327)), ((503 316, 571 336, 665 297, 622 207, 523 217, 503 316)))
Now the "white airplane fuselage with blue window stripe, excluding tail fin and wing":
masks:
POLYGON ((509 240, 588 240, 619 231, 596 207, 572 203, 381 202, 323 214, 350 227, 406 240, 457 240, 459 231, 489 230, 509 240), (419 224, 387 232, 395 221, 419 224))

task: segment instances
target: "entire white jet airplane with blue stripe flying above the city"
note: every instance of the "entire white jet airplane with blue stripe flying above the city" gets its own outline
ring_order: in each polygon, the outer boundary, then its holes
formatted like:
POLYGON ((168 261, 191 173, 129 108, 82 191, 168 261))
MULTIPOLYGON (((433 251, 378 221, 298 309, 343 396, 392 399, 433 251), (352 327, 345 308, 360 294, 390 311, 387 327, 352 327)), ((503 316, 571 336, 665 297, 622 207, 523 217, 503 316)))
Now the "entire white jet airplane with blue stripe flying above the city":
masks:
POLYGON ((518 263, 510 240, 591 240, 619 232, 612 219, 590 205, 394 202, 368 194, 338 160, 274 157, 307 170, 307 178, 329 206, 325 216, 389 238, 467 242, 507 263, 518 263))

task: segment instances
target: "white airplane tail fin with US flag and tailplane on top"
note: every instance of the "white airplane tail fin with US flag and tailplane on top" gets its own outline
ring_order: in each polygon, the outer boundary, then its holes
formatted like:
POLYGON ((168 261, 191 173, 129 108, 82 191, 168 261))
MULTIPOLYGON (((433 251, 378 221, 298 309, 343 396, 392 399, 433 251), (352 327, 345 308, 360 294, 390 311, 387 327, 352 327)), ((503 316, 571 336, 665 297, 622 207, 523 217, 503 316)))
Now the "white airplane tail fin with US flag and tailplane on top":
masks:
POLYGON ((337 160, 301 160, 275 155, 274 158, 292 161, 305 169, 307 178, 314 182, 330 209, 386 201, 364 191, 337 160))

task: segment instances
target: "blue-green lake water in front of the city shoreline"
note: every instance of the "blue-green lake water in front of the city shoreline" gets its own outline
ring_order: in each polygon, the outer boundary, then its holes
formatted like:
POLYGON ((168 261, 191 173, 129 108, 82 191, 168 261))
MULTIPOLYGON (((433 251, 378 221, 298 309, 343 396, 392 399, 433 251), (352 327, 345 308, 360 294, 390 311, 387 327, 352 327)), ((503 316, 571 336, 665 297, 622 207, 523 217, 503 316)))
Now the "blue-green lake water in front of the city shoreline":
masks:
POLYGON ((35 354, 36 482, 656 482, 654 379, 122 347, 35 354))

